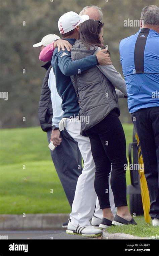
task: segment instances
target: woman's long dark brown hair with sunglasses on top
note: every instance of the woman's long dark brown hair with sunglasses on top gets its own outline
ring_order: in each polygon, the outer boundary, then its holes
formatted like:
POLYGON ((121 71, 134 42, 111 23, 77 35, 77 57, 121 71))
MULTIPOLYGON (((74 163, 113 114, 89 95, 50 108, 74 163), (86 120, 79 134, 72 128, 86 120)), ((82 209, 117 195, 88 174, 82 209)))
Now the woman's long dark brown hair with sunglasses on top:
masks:
POLYGON ((80 38, 81 38, 81 41, 87 46, 88 49, 89 49, 89 45, 93 45, 93 46, 95 45, 95 46, 101 47, 102 49, 105 49, 105 47, 101 44, 100 37, 99 37, 101 28, 103 26, 104 26, 104 23, 102 23, 101 21, 95 21, 95 20, 87 20, 81 23, 80 38))

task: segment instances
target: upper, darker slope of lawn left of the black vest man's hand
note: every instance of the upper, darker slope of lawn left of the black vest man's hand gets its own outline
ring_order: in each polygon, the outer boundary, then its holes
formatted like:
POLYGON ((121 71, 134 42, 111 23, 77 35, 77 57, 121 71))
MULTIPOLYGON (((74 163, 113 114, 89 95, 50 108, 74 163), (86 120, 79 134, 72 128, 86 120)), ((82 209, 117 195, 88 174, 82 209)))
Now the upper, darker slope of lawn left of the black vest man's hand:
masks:
POLYGON ((50 159, 47 134, 40 127, 0 130, 0 164, 50 159))

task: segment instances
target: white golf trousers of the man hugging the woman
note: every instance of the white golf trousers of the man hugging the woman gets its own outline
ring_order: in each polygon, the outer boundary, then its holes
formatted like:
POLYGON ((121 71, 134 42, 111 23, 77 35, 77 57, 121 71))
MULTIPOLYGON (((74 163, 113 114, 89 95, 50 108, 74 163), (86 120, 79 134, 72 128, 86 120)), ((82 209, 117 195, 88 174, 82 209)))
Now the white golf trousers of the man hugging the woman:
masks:
MULTIPOLYGON (((102 210, 99 209, 99 201, 94 189, 95 163, 91 152, 91 143, 89 137, 80 134, 81 122, 76 118, 66 120, 66 130, 69 135, 78 143, 81 155, 84 160, 84 168, 79 176, 75 196, 70 214, 71 223, 74 226, 78 224, 83 227, 90 225, 90 219, 93 215, 102 219, 102 210), (96 209, 95 209, 96 207, 96 209)), ((111 174, 110 174, 111 175, 111 174)), ((109 175, 109 185, 110 185, 109 175)), ((113 215, 116 214, 114 197, 111 187, 109 186, 110 205, 113 215)))

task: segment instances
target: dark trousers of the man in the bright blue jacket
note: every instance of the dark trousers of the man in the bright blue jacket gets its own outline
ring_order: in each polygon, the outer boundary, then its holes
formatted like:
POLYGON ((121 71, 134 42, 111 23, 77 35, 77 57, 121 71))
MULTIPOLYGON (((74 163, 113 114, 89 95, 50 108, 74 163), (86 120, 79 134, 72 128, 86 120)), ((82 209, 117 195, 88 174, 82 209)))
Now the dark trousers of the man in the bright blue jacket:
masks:
POLYGON ((140 139, 150 194, 150 216, 159 219, 159 107, 142 108, 131 116, 140 139))

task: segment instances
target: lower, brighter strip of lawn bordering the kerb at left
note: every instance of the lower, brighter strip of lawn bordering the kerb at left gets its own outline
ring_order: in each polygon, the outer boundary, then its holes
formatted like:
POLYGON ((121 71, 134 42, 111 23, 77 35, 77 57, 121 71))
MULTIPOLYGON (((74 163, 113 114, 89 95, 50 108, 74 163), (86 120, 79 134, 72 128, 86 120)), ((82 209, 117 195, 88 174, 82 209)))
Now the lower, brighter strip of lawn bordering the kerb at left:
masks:
POLYGON ((3 165, 0 176, 0 214, 70 212, 51 161, 3 165))

